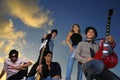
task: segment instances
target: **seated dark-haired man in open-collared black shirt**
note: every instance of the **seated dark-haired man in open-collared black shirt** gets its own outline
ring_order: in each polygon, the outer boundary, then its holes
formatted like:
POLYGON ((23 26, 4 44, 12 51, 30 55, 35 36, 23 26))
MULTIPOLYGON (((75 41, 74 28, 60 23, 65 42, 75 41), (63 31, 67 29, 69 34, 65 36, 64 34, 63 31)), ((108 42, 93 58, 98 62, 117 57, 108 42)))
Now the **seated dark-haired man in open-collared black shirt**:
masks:
POLYGON ((60 80, 61 67, 58 62, 52 61, 52 52, 47 51, 44 54, 45 63, 37 67, 37 72, 41 74, 41 80, 60 80))

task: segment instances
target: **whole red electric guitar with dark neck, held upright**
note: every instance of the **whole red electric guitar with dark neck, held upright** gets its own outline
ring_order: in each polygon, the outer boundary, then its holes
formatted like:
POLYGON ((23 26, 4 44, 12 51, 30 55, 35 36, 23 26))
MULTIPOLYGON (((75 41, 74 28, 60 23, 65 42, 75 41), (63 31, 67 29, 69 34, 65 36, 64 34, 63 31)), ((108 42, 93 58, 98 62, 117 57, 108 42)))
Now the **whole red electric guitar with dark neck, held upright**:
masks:
MULTIPOLYGON (((114 11, 113 9, 110 9, 108 13, 106 36, 110 35, 110 23, 113 11, 114 11)), ((105 68, 113 68, 118 63, 118 57, 116 53, 113 51, 114 46, 115 43, 108 44, 108 41, 106 39, 102 39, 100 42, 100 49, 95 54, 95 59, 102 60, 105 64, 105 68), (112 49, 112 52, 109 51, 109 48, 112 49)))

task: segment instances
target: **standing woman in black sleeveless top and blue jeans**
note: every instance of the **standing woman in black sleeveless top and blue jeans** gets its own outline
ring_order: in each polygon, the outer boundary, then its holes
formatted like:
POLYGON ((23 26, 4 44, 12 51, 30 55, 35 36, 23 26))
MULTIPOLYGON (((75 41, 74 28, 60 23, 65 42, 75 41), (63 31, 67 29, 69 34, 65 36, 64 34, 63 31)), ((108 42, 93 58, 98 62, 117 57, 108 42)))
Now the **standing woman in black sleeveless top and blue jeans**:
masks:
MULTIPOLYGON (((73 64, 75 62, 74 52, 77 44, 82 41, 82 36, 80 34, 80 26, 78 24, 73 24, 71 31, 66 37, 66 43, 70 49, 70 56, 67 63, 66 69, 66 80, 71 79, 71 73, 73 70, 73 64)), ((81 68, 81 63, 78 63, 78 67, 81 68)), ((78 70, 77 80, 82 80, 82 70, 78 70)))

